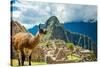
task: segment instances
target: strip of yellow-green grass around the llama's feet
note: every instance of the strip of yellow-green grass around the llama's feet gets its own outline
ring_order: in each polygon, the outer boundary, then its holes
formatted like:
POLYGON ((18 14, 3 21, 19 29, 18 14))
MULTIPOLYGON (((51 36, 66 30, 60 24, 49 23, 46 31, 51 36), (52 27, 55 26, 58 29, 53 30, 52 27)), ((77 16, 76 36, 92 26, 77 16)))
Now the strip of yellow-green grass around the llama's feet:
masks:
MULTIPOLYGON (((15 67, 15 66, 18 66, 18 60, 17 59, 12 59, 12 65, 15 67)), ((31 62, 31 65, 44 65, 44 64, 47 64, 46 62, 31 62)), ((24 65, 25 66, 28 66, 28 61, 25 61, 24 62, 24 65)))

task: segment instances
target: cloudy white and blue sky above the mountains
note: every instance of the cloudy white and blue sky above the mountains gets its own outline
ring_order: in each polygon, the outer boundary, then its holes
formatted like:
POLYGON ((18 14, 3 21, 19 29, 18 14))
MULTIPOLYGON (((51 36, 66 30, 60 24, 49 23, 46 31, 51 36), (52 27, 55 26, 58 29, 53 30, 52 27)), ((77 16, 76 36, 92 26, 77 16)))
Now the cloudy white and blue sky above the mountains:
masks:
POLYGON ((57 16, 60 23, 97 19, 96 5, 43 3, 36 1, 12 0, 12 19, 26 27, 32 28, 44 24, 51 16, 57 16))

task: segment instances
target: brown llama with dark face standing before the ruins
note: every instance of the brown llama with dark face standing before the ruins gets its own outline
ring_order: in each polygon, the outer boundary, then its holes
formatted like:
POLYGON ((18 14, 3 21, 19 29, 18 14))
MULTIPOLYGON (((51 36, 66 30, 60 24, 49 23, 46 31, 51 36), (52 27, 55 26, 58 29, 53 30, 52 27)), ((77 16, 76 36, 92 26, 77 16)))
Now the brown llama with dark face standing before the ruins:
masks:
POLYGON ((20 32, 13 37, 12 42, 18 56, 19 65, 24 65, 25 57, 28 58, 29 65, 31 65, 32 50, 39 44, 44 34, 46 34, 46 31, 40 29, 39 26, 39 32, 36 36, 31 33, 20 32))

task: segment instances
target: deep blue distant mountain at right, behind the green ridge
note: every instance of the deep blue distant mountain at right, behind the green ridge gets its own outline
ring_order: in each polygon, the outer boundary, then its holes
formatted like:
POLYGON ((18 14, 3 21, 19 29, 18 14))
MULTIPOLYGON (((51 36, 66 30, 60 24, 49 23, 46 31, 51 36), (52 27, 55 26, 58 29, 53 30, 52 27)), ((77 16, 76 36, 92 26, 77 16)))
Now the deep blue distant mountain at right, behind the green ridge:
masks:
POLYGON ((66 22, 63 24, 63 26, 66 30, 84 34, 91 37, 93 41, 97 41, 97 22, 66 22))

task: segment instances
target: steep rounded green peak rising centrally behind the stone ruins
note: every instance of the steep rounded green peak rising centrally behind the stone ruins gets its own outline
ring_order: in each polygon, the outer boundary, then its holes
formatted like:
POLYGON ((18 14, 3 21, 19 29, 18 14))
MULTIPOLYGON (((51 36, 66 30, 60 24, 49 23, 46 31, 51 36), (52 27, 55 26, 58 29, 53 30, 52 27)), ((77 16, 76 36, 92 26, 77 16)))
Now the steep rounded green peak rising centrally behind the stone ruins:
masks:
POLYGON ((56 16, 50 17, 46 22, 46 39, 61 39, 67 41, 66 32, 56 16))

